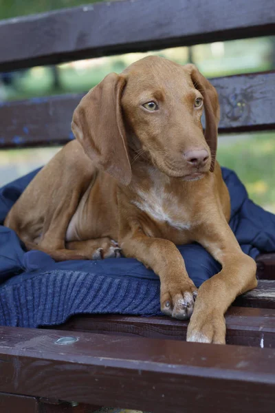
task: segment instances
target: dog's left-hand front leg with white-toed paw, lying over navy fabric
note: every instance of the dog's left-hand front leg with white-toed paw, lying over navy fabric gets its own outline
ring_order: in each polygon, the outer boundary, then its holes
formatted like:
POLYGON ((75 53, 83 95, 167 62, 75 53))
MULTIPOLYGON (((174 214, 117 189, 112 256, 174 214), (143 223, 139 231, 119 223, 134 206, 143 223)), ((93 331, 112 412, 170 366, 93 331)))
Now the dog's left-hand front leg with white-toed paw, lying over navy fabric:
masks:
POLYGON ((192 314, 197 288, 186 272, 179 250, 168 240, 147 237, 137 229, 123 237, 122 251, 126 256, 152 268, 159 275, 162 313, 177 319, 188 319, 192 314))

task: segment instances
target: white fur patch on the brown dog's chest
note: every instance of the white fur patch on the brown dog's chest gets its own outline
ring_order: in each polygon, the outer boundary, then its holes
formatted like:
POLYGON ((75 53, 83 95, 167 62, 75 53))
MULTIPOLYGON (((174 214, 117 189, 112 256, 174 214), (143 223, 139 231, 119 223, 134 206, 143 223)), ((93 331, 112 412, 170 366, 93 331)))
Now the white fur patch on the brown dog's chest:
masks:
POLYGON ((148 191, 137 189, 136 193, 137 199, 133 204, 153 220, 166 223, 177 230, 191 228, 190 214, 177 194, 166 191, 161 184, 152 186, 148 191))

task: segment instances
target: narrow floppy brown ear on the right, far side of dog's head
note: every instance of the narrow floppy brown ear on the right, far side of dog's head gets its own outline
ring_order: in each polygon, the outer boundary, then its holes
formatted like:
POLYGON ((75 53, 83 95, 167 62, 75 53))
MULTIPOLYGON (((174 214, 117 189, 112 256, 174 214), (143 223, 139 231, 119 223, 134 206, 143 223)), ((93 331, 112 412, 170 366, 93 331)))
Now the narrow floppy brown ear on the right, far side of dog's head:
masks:
POLYGON ((219 125, 219 98, 217 90, 211 83, 197 70, 195 65, 185 65, 190 73, 192 83, 203 96, 204 111, 206 115, 206 129, 204 136, 211 151, 210 171, 214 171, 217 154, 218 125, 219 125))

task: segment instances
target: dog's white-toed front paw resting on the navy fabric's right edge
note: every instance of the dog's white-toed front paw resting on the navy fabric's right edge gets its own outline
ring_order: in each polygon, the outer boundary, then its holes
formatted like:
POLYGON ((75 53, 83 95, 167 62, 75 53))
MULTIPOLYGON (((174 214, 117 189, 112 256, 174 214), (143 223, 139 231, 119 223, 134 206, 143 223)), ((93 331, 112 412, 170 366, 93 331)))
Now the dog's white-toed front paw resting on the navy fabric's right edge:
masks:
POLYGON ((196 297, 197 288, 191 280, 176 288, 162 284, 160 295, 162 313, 180 320, 189 319, 194 309, 196 297))

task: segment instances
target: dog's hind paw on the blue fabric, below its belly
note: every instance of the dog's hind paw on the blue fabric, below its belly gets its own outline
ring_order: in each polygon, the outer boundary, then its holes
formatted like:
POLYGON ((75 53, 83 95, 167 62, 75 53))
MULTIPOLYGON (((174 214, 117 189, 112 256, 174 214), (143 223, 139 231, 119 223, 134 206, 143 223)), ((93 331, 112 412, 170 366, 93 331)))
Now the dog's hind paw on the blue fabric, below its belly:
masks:
POLYGON ((90 260, 120 257, 118 243, 109 237, 97 238, 96 240, 67 242, 66 248, 79 251, 79 253, 85 255, 85 257, 89 257, 90 260))

